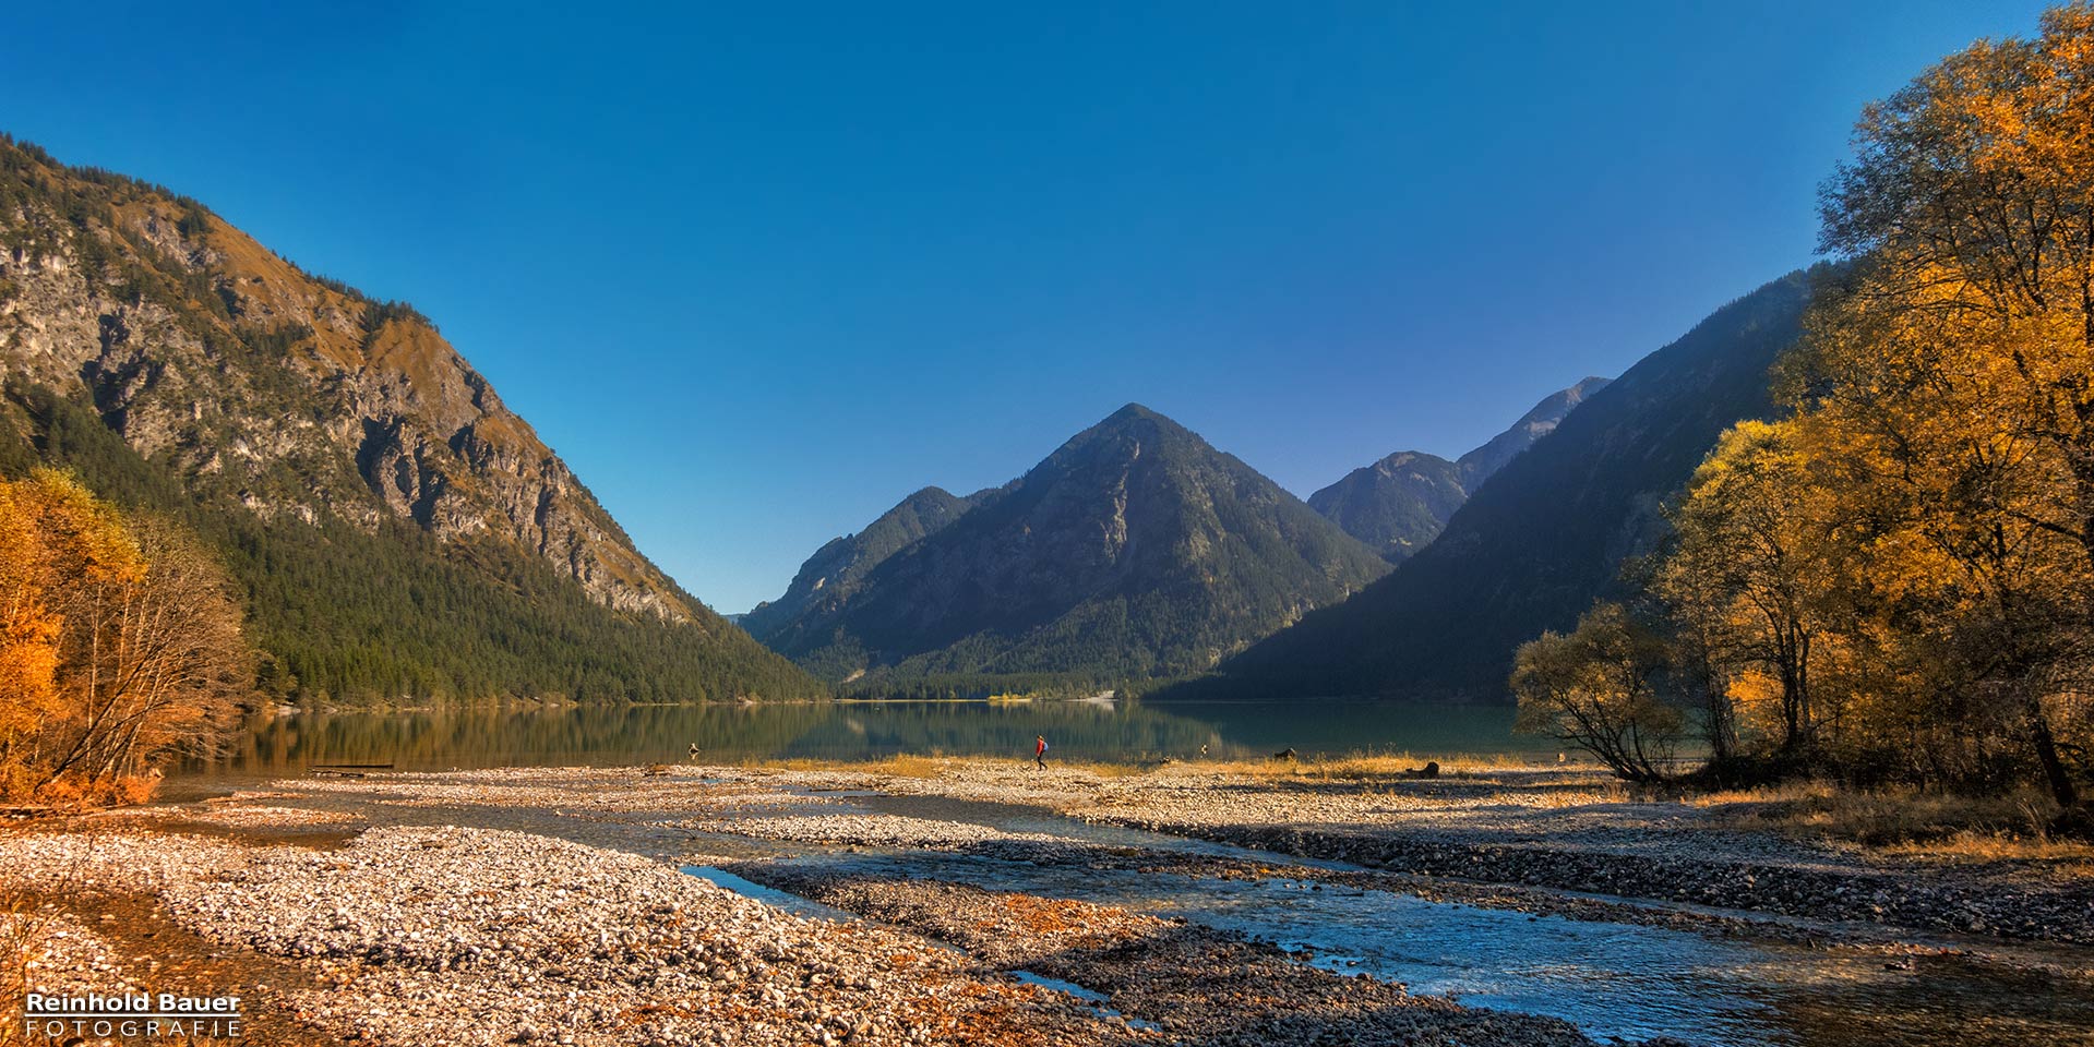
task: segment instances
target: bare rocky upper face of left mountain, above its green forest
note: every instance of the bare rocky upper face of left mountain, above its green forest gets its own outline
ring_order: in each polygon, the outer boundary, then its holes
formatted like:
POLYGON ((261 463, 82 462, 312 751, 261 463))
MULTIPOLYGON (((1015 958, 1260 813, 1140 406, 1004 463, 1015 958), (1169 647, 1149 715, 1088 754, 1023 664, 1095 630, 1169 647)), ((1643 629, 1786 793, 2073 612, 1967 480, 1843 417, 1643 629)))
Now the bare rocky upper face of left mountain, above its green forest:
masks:
POLYGON ((509 542, 603 605, 706 624, 410 308, 310 276, 195 201, 0 142, 0 366, 272 521, 509 542))

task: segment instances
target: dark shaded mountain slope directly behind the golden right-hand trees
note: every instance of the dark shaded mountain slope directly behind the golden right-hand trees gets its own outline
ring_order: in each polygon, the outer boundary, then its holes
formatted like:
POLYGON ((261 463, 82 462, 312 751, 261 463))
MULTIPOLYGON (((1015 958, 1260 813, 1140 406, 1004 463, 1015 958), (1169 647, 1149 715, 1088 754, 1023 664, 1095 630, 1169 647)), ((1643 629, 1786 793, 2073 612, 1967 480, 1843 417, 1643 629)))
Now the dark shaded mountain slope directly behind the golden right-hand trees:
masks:
POLYGON ((1503 697, 1514 647, 1570 628, 1663 536, 1661 503, 1717 433, 1774 413, 1767 369, 1799 335, 1809 279, 1719 308, 1508 461, 1393 574, 1162 697, 1503 697))

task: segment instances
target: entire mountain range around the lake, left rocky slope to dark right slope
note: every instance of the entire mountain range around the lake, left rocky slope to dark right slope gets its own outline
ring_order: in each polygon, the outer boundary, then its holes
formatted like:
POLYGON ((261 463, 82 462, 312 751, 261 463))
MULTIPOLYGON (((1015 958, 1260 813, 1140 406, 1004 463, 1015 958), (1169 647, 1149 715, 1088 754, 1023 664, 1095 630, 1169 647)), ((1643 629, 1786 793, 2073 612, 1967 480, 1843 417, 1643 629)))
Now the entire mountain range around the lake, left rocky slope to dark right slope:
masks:
POLYGON ((1501 695, 1512 649, 1573 624, 1715 436, 1772 410, 1805 299, 1790 274, 1457 461, 1390 454, 1309 503, 1129 404, 1001 488, 923 488, 819 549, 741 618, 764 649, 419 312, 0 138, 0 475, 69 467, 188 524, 293 699, 827 693, 806 670, 873 693, 1501 695))

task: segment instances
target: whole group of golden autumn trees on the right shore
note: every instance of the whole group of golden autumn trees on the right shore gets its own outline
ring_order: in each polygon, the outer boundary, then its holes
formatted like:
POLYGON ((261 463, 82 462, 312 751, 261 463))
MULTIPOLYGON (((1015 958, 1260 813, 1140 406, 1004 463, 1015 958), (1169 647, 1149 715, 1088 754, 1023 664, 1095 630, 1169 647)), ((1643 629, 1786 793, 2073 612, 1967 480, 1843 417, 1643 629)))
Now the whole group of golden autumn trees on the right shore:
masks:
MULTIPOLYGON (((1847 264, 1776 369, 1786 417, 1696 471, 1638 618, 1719 773, 2033 783, 2086 823, 2094 6, 1870 105, 1822 211, 1847 264)), ((1562 706, 1533 681, 1564 641, 1520 651, 1522 706, 1562 706)))

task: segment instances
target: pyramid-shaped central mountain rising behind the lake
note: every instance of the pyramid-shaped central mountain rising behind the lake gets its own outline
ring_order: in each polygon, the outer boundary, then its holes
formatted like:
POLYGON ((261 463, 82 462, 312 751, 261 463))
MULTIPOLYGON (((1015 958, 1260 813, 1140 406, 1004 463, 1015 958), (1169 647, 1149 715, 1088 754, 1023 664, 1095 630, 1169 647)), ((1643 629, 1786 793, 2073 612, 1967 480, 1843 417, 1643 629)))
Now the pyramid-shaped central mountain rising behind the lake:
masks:
POLYGON ((1171 676, 1386 570, 1235 456, 1129 404, 764 641, 846 681, 1171 676))

